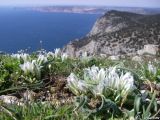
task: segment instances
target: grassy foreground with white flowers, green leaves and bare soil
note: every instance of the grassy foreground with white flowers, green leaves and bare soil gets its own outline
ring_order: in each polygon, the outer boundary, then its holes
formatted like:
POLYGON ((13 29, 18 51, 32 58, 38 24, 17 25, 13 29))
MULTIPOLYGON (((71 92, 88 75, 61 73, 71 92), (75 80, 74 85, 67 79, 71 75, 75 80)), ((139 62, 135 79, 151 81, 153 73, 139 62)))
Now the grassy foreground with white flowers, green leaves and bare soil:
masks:
POLYGON ((160 61, 0 55, 0 120, 160 118, 160 61))

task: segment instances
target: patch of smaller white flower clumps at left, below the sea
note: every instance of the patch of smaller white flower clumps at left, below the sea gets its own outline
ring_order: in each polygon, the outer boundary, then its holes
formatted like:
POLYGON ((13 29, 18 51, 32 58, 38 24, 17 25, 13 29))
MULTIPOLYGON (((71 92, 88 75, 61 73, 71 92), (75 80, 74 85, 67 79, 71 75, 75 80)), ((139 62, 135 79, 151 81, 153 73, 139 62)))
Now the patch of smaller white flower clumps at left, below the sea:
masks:
POLYGON ((68 55, 61 52, 59 48, 55 49, 55 52, 47 53, 46 51, 39 51, 36 58, 31 58, 27 53, 12 54, 11 56, 17 58, 20 61, 22 60, 20 68, 24 71, 25 74, 40 74, 43 64, 48 62, 50 58, 60 58, 62 61, 68 58, 68 55))

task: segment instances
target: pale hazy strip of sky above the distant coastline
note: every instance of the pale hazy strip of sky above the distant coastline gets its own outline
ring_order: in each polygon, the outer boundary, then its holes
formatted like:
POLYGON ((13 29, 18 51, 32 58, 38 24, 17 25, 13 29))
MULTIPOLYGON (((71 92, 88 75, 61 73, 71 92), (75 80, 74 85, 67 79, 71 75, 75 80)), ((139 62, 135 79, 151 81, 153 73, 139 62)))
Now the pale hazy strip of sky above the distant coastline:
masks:
POLYGON ((103 5, 160 8, 160 0, 0 0, 0 6, 36 5, 103 5))

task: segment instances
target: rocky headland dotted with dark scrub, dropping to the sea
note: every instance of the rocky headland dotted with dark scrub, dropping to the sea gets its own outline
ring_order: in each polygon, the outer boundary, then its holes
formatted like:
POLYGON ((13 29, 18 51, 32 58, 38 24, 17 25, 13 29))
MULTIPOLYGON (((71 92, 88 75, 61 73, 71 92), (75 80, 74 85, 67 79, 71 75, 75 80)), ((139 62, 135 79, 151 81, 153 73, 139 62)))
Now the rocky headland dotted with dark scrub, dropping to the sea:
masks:
POLYGON ((160 15, 109 11, 99 18, 82 39, 72 41, 63 51, 70 56, 132 54, 146 44, 160 45, 160 15))

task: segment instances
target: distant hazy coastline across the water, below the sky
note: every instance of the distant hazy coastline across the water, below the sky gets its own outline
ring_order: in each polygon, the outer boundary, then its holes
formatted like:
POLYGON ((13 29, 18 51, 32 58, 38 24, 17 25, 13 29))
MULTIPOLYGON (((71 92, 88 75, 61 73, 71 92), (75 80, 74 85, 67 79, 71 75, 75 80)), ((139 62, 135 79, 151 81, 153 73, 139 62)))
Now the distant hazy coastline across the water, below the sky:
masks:
POLYGON ((42 6, 31 7, 29 10, 51 13, 82 13, 82 14, 104 14, 110 10, 128 11, 139 14, 160 13, 159 8, 141 8, 141 7, 113 7, 113 6, 42 6))

